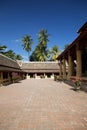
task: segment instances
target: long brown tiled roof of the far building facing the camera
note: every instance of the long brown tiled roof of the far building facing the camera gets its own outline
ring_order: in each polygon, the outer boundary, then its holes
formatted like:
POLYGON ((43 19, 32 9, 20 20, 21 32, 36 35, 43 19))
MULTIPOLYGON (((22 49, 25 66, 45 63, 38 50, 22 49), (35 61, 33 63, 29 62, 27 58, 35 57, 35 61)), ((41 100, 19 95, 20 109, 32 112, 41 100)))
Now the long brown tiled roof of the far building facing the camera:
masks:
POLYGON ((58 72, 58 62, 28 62, 22 63, 26 72, 58 72))

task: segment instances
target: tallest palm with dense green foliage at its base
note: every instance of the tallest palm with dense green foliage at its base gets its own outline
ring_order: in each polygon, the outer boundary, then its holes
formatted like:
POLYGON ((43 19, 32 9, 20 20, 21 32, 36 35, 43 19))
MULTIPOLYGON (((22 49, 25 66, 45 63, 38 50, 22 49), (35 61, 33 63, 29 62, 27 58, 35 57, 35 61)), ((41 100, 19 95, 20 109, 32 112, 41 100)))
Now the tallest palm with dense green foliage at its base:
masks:
POLYGON ((47 43, 49 34, 46 29, 42 29, 38 34, 38 45, 30 56, 30 61, 46 61, 48 58, 47 43))

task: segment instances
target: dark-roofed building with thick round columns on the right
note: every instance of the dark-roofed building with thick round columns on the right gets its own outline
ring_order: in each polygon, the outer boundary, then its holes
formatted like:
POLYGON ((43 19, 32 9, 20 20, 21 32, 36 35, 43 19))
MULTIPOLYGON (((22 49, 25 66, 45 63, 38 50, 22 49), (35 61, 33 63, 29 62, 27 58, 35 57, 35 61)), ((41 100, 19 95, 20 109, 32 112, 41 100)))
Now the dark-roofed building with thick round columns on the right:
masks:
POLYGON ((79 36, 58 56, 60 77, 87 81, 87 22, 78 30, 79 36), (66 73, 66 63, 68 73, 66 73))

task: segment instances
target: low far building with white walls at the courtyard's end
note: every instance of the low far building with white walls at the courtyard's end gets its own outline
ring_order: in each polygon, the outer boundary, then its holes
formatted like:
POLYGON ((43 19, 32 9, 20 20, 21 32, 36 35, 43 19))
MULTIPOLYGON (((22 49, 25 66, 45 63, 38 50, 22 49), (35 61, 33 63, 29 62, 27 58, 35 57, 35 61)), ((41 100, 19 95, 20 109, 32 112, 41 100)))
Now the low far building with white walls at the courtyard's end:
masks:
POLYGON ((24 62, 22 71, 26 72, 28 78, 54 78, 59 75, 58 62, 24 62))

